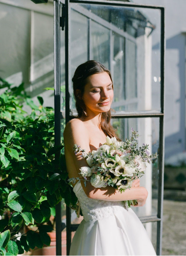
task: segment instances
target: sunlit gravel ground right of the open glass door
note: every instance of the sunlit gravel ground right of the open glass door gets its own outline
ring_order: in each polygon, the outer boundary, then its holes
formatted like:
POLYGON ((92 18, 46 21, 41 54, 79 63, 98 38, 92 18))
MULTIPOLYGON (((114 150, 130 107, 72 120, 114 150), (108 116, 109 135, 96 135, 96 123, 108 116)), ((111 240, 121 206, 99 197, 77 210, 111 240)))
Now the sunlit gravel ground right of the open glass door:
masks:
POLYGON ((186 255, 186 201, 164 200, 162 255, 186 255))

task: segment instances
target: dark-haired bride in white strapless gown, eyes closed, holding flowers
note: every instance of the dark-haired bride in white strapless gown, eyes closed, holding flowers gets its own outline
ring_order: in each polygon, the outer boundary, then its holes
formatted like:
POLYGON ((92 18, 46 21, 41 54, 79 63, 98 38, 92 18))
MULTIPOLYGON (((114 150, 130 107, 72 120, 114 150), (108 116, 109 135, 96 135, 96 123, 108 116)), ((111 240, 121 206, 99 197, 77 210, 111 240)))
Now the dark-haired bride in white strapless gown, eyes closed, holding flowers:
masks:
MULTIPOLYGON (((67 123, 64 144, 69 178, 77 178, 79 169, 88 165, 80 153, 74 154, 73 145, 89 152, 104 144, 107 135, 117 135, 110 124, 110 71, 100 62, 87 61, 76 69, 72 81, 78 118, 67 123)), ((73 190, 84 220, 75 233, 70 255, 156 255, 142 223, 122 202, 137 199, 136 207, 145 204, 148 192, 139 186, 139 179, 124 193, 111 186, 94 188, 89 181, 86 186, 77 181, 73 190)))

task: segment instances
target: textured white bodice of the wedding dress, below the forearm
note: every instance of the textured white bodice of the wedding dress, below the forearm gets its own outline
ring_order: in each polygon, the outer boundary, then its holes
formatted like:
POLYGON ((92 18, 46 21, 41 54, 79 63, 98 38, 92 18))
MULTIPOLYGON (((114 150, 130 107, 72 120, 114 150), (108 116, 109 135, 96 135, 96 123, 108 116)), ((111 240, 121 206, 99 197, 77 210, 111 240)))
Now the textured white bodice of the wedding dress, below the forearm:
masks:
POLYGON ((95 221, 112 216, 117 211, 123 210, 123 208, 128 210, 123 201, 106 201, 88 198, 80 182, 75 184, 73 191, 79 199, 85 221, 95 221))

